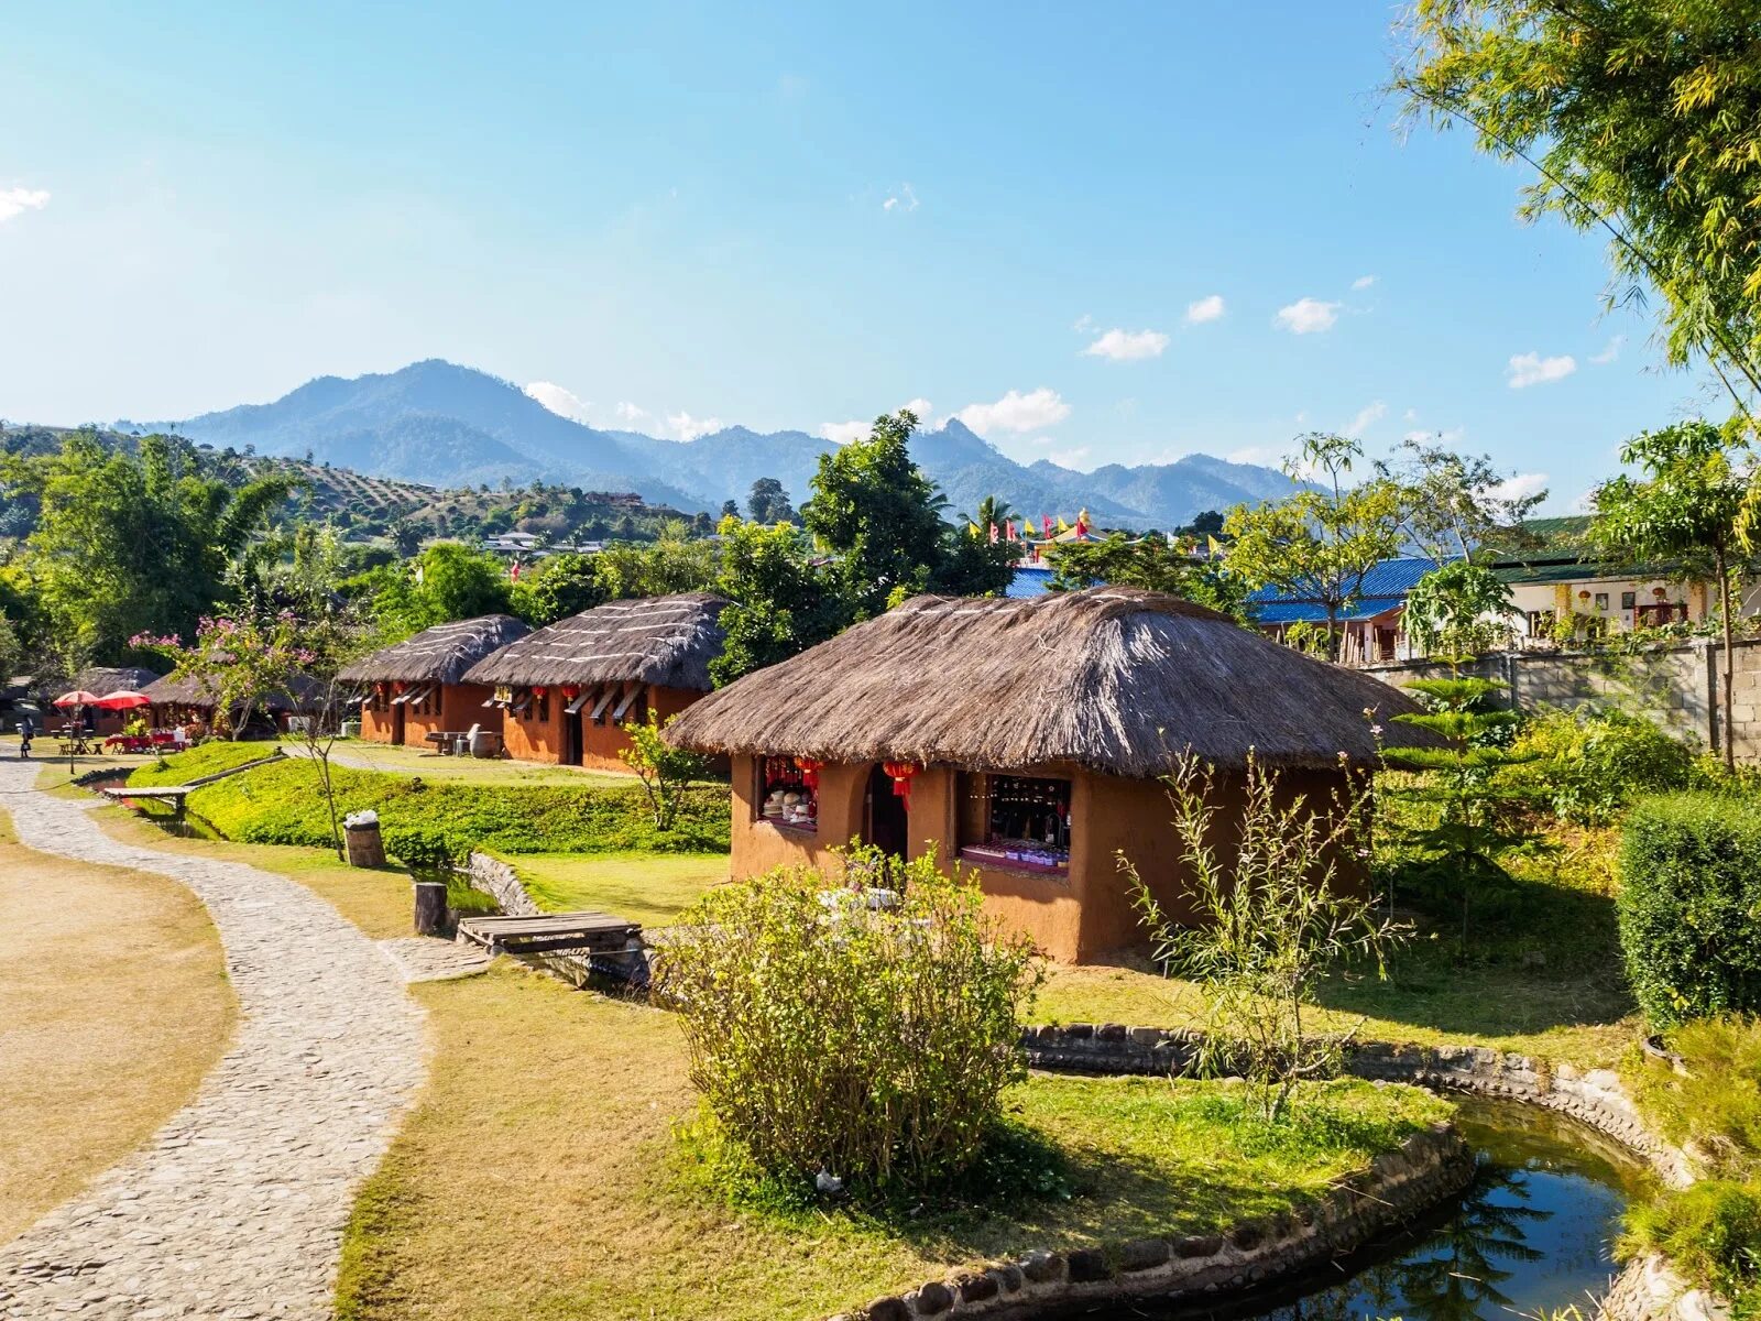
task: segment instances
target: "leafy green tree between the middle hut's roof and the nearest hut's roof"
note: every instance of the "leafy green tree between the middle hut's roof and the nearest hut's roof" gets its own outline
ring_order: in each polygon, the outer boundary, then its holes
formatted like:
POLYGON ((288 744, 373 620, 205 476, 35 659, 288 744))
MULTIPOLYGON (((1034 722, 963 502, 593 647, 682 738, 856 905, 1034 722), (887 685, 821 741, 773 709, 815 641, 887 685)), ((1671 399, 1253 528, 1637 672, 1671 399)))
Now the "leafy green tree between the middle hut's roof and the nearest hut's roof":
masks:
POLYGON ((717 687, 787 660, 851 624, 836 581, 787 523, 724 518, 715 585, 733 602, 722 611, 727 645, 710 662, 717 687))

